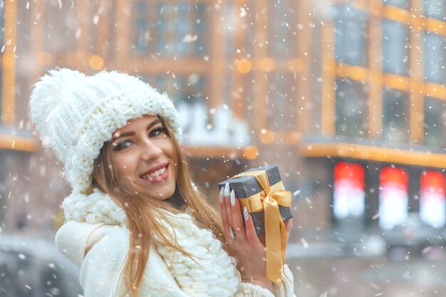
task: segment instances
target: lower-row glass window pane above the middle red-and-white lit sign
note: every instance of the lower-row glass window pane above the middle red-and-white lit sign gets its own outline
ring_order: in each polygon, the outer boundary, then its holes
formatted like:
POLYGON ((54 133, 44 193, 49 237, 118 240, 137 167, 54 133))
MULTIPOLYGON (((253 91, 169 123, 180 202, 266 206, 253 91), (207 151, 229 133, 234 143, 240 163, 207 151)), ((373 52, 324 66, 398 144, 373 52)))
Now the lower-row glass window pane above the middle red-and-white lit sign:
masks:
POLYGON ((385 89, 383 95, 383 140, 409 141, 409 95, 385 89))

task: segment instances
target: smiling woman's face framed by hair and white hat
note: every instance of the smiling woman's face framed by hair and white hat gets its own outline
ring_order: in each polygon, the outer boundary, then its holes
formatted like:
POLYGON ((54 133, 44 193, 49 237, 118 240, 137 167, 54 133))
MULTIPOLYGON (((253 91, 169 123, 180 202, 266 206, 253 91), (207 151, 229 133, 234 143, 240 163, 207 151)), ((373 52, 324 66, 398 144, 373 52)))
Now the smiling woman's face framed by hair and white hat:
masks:
POLYGON ((164 200, 175 192, 172 139, 156 115, 143 115, 113 133, 113 165, 127 192, 164 200))

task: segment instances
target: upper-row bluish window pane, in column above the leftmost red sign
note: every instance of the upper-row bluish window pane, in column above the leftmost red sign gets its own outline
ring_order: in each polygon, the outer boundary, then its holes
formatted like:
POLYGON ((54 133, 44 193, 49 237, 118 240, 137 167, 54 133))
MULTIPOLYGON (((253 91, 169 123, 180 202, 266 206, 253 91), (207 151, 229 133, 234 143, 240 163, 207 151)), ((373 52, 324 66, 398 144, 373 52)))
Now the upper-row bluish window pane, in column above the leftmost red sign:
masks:
POLYGON ((356 66, 366 66, 368 26, 365 13, 351 6, 336 10, 336 60, 356 66))

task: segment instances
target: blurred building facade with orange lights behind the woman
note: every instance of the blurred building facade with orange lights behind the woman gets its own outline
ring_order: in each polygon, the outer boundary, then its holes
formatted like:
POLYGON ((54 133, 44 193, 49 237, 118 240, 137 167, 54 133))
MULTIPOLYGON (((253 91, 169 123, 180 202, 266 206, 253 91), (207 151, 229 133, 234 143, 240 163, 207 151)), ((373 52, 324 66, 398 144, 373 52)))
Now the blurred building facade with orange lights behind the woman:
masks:
POLYGON ((217 182, 276 163, 296 233, 414 218, 442 228, 445 5, 2 1, 4 228, 61 224, 69 187, 28 119, 30 85, 56 66, 125 71, 170 95, 213 204, 217 182))

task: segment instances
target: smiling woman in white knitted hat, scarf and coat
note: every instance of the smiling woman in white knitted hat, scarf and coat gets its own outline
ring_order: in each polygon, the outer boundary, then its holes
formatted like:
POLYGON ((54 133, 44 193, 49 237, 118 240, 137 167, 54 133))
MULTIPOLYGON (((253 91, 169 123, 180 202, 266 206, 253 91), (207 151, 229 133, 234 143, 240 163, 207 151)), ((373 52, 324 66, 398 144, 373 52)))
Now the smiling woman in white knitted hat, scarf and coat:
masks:
POLYGON ((166 95, 124 73, 60 69, 36 83, 30 109, 73 187, 56 244, 81 267, 85 297, 294 296, 286 266, 281 286, 266 278, 234 192, 220 192, 222 226, 192 186, 166 95))

